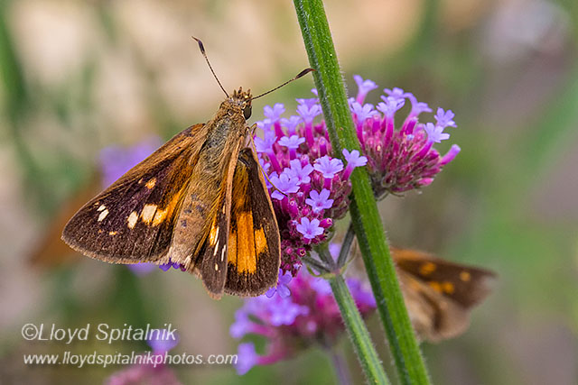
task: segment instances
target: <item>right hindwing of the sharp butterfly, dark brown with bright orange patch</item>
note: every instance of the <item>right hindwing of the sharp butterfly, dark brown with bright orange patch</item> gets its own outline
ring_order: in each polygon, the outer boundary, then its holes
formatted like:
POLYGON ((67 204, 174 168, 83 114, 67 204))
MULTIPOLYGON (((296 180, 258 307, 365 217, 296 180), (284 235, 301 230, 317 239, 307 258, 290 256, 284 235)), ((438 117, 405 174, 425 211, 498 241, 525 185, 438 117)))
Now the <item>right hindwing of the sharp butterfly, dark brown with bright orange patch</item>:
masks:
POLYGON ((255 153, 238 156, 232 183, 225 292, 258 296, 274 286, 280 263, 279 230, 255 153))

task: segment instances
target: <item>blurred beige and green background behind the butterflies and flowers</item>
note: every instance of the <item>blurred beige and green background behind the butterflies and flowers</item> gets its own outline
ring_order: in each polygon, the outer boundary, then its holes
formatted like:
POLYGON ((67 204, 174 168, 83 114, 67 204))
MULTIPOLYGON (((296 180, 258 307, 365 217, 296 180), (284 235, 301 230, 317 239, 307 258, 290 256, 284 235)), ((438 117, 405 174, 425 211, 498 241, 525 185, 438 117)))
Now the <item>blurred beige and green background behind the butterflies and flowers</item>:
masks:
MULTIPOLYGON (((435 383, 575 384, 578 379, 578 5, 573 0, 327 2, 343 74, 402 87, 455 112, 460 155, 421 194, 381 203, 392 243, 495 270, 491 297, 465 335, 423 350, 435 383)), ((172 270, 143 277, 58 243, 75 200, 95 183, 98 154, 163 140, 215 112, 221 82, 255 92, 308 67, 288 1, 0 2, 0 382, 102 383, 121 368, 24 367, 25 323, 178 328, 175 353, 236 353, 238 298, 211 300, 172 270)), ((310 97, 303 78, 254 105, 310 97)), ((378 91, 368 102, 378 102, 378 91)), ((443 143, 445 148, 450 144, 443 143)), ((442 150, 443 147, 442 146, 442 150)), ((78 203, 77 203, 78 204, 78 203)), ((384 362, 379 322, 368 320, 384 362)), ((346 339, 341 346, 362 382, 346 339)), ((91 353, 144 344, 75 344, 91 353)), ((333 383, 309 350, 238 377, 180 366, 183 383, 333 383)), ((390 371, 393 374, 393 371, 390 371)))

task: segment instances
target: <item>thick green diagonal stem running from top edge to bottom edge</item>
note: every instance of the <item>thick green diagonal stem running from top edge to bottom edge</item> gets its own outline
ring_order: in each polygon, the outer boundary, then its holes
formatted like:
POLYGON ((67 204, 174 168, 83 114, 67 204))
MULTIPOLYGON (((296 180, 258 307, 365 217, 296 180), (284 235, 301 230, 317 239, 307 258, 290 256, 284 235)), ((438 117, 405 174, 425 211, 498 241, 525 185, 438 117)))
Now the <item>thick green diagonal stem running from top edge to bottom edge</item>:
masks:
MULTIPOLYGON (((342 148, 359 150, 322 0, 294 0, 294 6, 311 67, 316 69, 313 78, 333 153, 340 156, 342 148)), ((429 377, 396 279, 396 269, 387 247, 367 170, 354 170, 351 184, 351 220, 399 379, 404 384, 428 384, 429 377)), ((331 286, 338 285, 334 281, 331 286)))

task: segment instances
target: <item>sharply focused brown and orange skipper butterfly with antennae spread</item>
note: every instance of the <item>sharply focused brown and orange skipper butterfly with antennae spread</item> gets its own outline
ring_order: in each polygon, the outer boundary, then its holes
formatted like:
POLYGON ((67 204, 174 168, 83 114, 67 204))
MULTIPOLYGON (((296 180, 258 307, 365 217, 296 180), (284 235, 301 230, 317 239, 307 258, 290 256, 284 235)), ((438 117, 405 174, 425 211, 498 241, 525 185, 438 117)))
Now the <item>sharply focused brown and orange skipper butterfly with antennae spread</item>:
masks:
POLYGON ((217 114, 178 133, 80 208, 64 227, 64 242, 101 261, 179 263, 200 276, 212 298, 258 296, 276 284, 279 230, 247 147, 247 119, 251 101, 278 87, 228 96, 215 78, 227 95, 217 114))

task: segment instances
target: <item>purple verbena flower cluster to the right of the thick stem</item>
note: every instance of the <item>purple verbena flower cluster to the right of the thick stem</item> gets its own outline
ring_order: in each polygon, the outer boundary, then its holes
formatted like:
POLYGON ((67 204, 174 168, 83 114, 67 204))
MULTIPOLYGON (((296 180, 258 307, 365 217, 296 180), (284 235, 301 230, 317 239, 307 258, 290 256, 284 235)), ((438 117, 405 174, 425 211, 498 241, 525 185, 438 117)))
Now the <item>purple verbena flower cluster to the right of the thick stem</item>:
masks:
POLYGON ((361 148, 368 157, 368 172, 376 196, 431 184, 443 166, 460 152, 456 144, 443 156, 433 149, 433 143, 450 138, 443 130, 456 127, 452 111, 438 108, 435 124, 421 124, 418 116, 431 113, 432 109, 418 102, 413 94, 401 88, 386 88, 386 95, 381 96, 383 101, 374 107, 364 104, 364 100, 378 86, 359 75, 354 78, 359 91, 356 98, 350 99, 350 109, 361 148), (411 111, 401 127, 396 128, 396 112, 406 105, 406 100, 411 103, 411 111))

